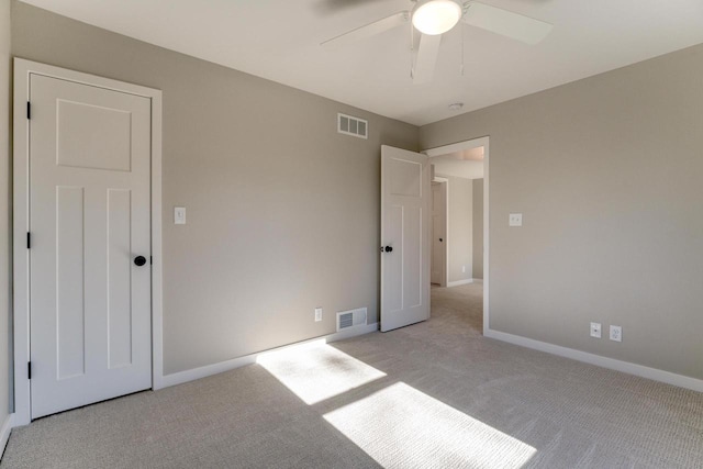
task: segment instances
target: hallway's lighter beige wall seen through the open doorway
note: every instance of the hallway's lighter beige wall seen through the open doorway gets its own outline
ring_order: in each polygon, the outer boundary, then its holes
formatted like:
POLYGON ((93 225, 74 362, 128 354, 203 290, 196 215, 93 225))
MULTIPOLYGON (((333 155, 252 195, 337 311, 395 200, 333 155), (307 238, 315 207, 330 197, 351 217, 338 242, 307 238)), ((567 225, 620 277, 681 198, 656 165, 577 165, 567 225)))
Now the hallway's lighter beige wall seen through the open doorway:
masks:
POLYGON ((456 176, 437 175, 449 180, 449 233, 447 282, 468 280, 471 278, 472 267, 472 189, 471 179, 456 176), (466 267, 461 271, 461 267, 466 267))

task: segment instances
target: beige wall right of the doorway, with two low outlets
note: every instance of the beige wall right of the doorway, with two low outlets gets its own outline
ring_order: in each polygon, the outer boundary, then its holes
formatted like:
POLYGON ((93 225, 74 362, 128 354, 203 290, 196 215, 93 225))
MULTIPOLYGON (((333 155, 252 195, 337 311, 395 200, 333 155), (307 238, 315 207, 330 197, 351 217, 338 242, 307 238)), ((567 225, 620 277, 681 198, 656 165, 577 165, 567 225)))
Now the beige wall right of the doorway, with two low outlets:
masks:
POLYGON ((421 127, 490 135, 491 328, 703 378, 701 77, 703 45, 421 127))

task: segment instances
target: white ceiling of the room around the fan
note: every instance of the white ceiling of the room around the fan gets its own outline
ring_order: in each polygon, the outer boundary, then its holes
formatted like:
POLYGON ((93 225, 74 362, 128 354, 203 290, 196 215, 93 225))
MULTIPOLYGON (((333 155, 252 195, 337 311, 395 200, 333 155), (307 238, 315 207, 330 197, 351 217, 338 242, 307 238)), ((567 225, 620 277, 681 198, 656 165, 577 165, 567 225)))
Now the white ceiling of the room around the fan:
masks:
POLYGON ((334 52, 319 45, 409 0, 23 1, 415 125, 456 115, 453 102, 472 111, 703 43, 701 0, 482 0, 555 27, 528 46, 459 23, 434 81, 415 86, 409 25, 334 52))

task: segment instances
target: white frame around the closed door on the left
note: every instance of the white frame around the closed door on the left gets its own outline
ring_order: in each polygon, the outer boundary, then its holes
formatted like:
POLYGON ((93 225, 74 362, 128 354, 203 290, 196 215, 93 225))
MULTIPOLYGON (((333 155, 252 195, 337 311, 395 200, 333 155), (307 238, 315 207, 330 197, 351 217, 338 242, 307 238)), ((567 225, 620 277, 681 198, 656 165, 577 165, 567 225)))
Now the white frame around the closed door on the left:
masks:
POLYGON ((30 255, 26 233, 30 224, 30 125, 27 103, 30 78, 42 75, 60 80, 144 97, 152 102, 150 235, 152 235, 152 388, 163 388, 163 259, 161 259, 161 91, 97 77, 23 58, 14 58, 13 104, 13 350, 14 415, 12 426, 32 421, 30 379, 30 255))

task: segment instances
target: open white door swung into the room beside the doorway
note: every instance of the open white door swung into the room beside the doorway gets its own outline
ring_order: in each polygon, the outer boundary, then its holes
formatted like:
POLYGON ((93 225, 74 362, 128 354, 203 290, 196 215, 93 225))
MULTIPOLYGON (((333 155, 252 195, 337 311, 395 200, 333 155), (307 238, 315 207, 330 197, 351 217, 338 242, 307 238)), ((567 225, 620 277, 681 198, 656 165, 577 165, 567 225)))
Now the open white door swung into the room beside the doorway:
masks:
POLYGON ((381 331, 429 319, 429 163, 381 147, 381 331))

